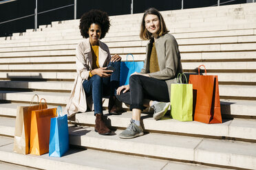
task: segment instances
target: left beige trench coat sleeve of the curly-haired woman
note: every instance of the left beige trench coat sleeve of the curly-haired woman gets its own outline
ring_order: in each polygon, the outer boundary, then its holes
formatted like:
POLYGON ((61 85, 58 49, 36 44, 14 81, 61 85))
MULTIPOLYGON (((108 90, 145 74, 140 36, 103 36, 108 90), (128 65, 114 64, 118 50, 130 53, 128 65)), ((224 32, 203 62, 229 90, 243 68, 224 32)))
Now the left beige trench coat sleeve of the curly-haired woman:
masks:
POLYGON ((76 71, 78 75, 83 79, 87 80, 89 77, 89 61, 85 58, 83 53, 83 44, 80 43, 76 47, 76 71))

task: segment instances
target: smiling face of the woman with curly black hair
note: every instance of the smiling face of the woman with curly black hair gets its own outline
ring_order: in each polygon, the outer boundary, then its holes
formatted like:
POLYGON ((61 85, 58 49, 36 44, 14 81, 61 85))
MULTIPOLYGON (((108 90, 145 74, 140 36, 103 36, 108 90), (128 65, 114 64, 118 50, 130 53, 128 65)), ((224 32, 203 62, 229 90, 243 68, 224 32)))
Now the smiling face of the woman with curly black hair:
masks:
POLYGON ((100 39, 101 35, 101 28, 100 25, 96 23, 92 23, 88 30, 89 34, 89 42, 91 45, 98 45, 98 40, 100 39))

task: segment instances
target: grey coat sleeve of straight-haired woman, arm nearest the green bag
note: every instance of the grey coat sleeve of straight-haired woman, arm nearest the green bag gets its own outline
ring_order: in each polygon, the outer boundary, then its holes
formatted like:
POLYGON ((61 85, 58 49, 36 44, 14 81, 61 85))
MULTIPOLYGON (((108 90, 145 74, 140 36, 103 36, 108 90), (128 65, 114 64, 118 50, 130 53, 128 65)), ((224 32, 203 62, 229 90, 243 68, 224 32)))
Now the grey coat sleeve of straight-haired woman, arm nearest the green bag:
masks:
POLYGON ((180 51, 174 37, 169 37, 164 42, 165 48, 165 69, 155 73, 149 73, 150 77, 158 80, 169 80, 175 77, 180 62, 180 51))

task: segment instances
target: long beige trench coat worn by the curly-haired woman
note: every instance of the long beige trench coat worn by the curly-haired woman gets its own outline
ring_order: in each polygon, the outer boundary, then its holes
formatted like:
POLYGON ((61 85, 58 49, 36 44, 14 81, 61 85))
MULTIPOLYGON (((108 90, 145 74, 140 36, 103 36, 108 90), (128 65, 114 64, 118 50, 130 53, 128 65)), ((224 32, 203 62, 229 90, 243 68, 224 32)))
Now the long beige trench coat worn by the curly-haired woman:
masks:
MULTIPOLYGON (((100 67, 107 66, 111 60, 109 48, 99 40, 98 64, 100 67)), ((83 81, 88 80, 89 71, 92 70, 92 51, 89 38, 78 43, 76 47, 76 71, 77 75, 74 80, 70 98, 64 113, 71 116, 76 112, 85 112, 87 105, 93 110, 92 98, 87 98, 83 89, 83 81)))

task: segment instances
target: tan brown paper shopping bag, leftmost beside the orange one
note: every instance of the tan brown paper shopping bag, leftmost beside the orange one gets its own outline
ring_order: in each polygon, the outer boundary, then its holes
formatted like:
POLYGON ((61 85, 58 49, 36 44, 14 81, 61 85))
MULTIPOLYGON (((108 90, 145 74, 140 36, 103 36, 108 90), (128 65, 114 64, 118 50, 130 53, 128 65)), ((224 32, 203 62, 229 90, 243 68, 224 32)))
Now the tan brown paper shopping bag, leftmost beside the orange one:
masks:
MULTIPOLYGON (((30 106, 18 106, 15 120, 14 147, 13 151, 19 154, 29 154, 30 152, 30 125, 32 110, 39 110, 39 96, 34 95, 30 106), (37 105, 33 105, 34 97, 37 97, 37 105)), ((43 104, 42 108, 46 108, 43 104)))

